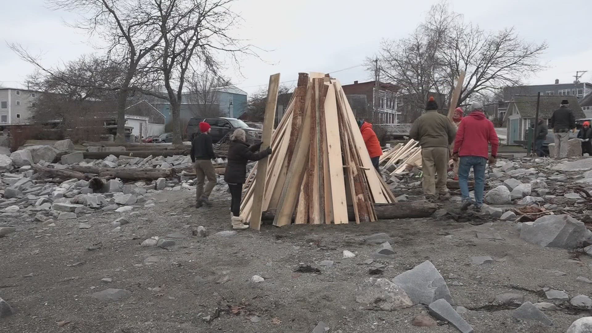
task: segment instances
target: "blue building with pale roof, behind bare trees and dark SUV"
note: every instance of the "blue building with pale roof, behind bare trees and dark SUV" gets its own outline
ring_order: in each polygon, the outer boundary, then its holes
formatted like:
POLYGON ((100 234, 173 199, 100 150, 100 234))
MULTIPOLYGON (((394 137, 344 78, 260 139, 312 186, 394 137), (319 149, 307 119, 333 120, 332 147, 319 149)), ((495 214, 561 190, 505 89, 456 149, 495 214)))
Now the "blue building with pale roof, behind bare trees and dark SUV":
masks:
MULTIPOLYGON (((208 108, 219 110, 221 117, 238 118, 246 110, 247 93, 233 85, 213 88, 211 94, 214 95, 211 98, 208 97, 211 100, 211 105, 208 108)), ((182 122, 200 116, 200 103, 198 103, 200 97, 198 95, 192 92, 183 95, 180 112, 182 122)), ((167 124, 172 120, 168 101, 154 101, 152 105, 165 115, 167 124)))

